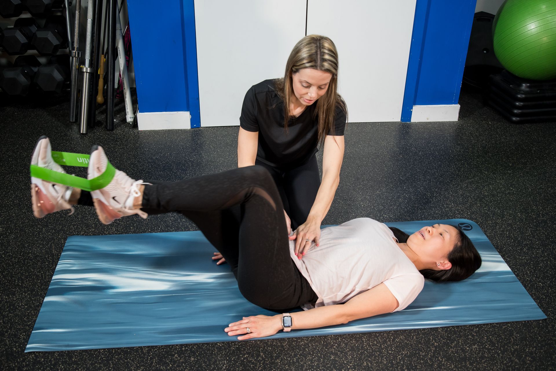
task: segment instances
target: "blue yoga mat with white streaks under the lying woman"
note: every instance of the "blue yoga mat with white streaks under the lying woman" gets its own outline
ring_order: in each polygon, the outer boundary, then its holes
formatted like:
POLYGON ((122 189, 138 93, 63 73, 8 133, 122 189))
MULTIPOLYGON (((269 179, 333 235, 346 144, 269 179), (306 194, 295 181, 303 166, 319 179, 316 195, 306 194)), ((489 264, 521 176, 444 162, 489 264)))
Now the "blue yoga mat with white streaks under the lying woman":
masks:
MULTIPOLYGON (((387 224, 413 233, 435 223, 461 223, 473 240, 483 265, 470 278, 427 281, 396 313, 272 338, 547 318, 474 222, 387 224)), ((276 313, 244 299, 214 251, 198 231, 69 237, 25 351, 237 341, 224 332, 229 323, 276 313)))

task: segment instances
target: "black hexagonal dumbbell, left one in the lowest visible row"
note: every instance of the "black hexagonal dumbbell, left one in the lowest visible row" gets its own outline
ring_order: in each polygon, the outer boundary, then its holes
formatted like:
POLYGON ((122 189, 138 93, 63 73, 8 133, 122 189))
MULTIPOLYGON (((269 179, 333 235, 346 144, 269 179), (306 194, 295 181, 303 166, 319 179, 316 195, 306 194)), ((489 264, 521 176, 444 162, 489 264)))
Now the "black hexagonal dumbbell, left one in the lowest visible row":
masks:
POLYGON ((41 62, 35 56, 19 56, 13 67, 2 70, 0 87, 9 95, 26 96, 41 62))

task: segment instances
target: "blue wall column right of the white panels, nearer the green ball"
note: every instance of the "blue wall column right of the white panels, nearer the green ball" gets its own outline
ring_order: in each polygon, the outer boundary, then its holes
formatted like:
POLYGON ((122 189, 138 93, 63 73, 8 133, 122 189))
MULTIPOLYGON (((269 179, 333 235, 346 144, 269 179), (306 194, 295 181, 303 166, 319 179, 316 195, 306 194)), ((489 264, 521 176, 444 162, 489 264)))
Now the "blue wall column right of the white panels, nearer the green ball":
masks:
POLYGON ((415 105, 455 105, 476 0, 417 0, 401 121, 415 105))

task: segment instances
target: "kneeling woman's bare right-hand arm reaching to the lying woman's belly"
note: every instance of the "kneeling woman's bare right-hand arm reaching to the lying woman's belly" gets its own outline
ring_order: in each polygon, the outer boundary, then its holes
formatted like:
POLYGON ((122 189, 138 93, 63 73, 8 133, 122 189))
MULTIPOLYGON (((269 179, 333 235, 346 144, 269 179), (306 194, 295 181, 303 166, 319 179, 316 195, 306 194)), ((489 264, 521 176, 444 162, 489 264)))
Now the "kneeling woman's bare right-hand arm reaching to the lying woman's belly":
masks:
POLYGON ((297 228, 295 254, 302 254, 315 241, 319 246, 320 224, 326 216, 340 183, 340 169, 344 159, 344 136, 327 135, 322 153, 322 181, 315 202, 304 224, 297 228), (307 241, 309 240, 309 241, 307 241))

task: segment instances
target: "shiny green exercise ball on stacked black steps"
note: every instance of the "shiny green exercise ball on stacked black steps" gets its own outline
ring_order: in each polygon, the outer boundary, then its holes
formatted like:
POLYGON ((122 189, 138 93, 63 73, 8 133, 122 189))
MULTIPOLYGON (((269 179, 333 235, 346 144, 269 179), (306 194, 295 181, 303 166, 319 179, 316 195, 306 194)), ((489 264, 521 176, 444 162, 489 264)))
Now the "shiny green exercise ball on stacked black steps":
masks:
POLYGON ((494 54, 515 76, 556 78, 556 0, 506 0, 493 22, 494 54))

